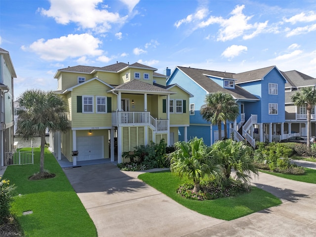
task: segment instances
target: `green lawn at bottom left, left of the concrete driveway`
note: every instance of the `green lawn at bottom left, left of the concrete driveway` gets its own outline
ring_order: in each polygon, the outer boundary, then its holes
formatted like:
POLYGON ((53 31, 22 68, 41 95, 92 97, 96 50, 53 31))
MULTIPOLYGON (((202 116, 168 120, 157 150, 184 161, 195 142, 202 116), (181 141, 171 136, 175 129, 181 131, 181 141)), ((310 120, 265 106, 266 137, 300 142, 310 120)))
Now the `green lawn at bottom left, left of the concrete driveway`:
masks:
MULTIPOLYGON (((22 150, 30 150, 24 148, 22 150)), ((21 151, 22 151, 21 150, 21 151)), ((34 165, 8 166, 3 179, 17 187, 11 211, 26 237, 96 237, 95 226, 54 156, 45 150, 45 169, 55 178, 30 181, 40 171, 40 148, 34 165), (21 195, 20 195, 21 194, 21 195), (24 211, 33 214, 22 215, 24 211)))

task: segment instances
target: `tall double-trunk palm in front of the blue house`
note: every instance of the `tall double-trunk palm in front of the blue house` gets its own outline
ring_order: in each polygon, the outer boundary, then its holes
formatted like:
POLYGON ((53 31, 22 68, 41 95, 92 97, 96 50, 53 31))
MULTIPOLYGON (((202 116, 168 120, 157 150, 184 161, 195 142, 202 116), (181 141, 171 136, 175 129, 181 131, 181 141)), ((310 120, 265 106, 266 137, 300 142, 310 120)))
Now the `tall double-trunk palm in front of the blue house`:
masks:
POLYGON ((200 113, 203 119, 213 125, 218 125, 218 140, 222 140, 222 122, 224 123, 225 138, 227 138, 227 120, 234 121, 239 115, 239 107, 230 94, 216 92, 207 94, 205 104, 200 113))

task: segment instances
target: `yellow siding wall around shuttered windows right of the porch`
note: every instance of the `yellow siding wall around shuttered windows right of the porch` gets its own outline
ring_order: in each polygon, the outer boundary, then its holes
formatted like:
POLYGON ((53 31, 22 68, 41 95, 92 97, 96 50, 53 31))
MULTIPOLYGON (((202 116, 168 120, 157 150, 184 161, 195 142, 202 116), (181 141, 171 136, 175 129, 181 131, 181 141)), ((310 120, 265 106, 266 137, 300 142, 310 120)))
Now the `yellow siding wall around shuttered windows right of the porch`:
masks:
MULTIPOLYGON (((176 92, 177 94, 170 95, 170 99, 183 99, 186 100, 186 113, 171 113, 170 114, 170 125, 181 125, 181 124, 190 124, 190 101, 189 95, 182 91, 179 87, 174 86, 170 89, 172 92, 176 92)), ((174 108, 175 110, 175 108, 174 108)))

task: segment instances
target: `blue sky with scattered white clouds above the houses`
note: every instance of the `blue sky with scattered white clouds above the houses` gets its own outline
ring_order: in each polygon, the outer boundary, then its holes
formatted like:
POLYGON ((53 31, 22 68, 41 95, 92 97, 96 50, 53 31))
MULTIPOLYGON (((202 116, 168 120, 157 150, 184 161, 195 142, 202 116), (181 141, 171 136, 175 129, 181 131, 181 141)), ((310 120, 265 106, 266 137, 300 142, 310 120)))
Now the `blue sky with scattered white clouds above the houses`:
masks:
POLYGON ((316 77, 315 0, 1 0, 14 96, 56 90, 57 69, 139 62, 316 77))

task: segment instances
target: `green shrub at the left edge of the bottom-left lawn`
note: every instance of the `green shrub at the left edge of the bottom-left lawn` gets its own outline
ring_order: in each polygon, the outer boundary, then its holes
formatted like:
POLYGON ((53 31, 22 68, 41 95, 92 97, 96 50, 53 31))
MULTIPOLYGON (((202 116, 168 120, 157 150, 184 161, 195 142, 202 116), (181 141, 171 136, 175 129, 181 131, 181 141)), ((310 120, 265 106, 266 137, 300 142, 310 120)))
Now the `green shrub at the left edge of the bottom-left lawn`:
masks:
POLYGON ((14 185, 9 184, 9 180, 0 180, 0 224, 10 216, 15 188, 14 185))

